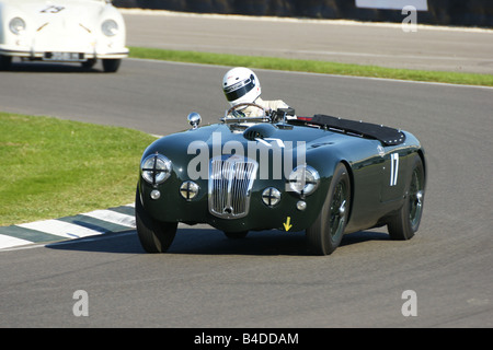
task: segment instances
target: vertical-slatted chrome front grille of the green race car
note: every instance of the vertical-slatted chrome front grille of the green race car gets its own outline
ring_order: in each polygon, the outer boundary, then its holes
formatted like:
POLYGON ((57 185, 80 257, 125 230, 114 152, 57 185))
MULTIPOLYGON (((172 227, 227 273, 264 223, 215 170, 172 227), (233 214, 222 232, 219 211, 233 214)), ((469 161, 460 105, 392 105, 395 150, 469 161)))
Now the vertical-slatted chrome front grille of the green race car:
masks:
POLYGON ((240 158, 215 158, 209 167, 209 211, 223 219, 249 213, 250 196, 259 164, 240 158))

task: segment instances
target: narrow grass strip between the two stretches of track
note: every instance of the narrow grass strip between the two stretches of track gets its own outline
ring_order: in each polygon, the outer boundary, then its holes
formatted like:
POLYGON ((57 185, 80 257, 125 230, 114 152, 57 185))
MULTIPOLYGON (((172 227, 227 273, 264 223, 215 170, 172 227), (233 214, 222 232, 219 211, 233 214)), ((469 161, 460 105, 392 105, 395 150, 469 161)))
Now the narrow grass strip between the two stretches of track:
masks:
POLYGON ((318 60, 288 59, 261 56, 239 56, 229 54, 210 54, 198 51, 167 50, 159 48, 130 47, 130 57, 158 59, 219 66, 242 66, 286 71, 300 71, 324 74, 371 77, 400 79, 425 82, 493 86, 493 74, 473 74, 459 72, 442 72, 425 70, 409 70, 383 68, 377 66, 360 66, 336 63, 318 60))

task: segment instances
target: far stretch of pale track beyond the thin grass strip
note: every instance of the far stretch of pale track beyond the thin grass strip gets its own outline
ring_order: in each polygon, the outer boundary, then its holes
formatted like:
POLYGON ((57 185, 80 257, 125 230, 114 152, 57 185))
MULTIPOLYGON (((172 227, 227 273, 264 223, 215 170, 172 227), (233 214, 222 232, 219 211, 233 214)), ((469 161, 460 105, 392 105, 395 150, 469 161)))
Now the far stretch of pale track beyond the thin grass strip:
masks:
POLYGON ((421 25, 420 12, 416 32, 401 23, 124 13, 131 46, 493 74, 492 30, 421 25))

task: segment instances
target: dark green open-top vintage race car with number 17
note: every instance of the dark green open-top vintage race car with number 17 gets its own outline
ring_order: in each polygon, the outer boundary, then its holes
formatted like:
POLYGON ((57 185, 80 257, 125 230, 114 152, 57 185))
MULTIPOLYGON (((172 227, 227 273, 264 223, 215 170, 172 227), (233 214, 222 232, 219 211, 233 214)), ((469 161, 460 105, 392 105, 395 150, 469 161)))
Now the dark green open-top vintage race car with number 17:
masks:
MULTIPOLYGON (((249 107, 263 109, 254 104, 249 107)), ((344 233, 387 225, 391 238, 417 231, 425 195, 424 150, 410 132, 280 109, 165 136, 142 154, 136 224, 142 247, 165 252, 177 223, 207 223, 228 237, 305 231, 328 255, 344 233)))

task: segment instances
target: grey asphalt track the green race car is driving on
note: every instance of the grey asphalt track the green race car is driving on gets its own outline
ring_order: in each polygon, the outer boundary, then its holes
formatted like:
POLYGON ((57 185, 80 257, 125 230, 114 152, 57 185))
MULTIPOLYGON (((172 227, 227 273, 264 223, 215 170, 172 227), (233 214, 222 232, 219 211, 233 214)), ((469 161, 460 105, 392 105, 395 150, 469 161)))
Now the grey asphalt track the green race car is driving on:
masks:
MULTIPOLYGON (((165 135, 227 107, 226 67, 126 60, 117 74, 56 65, 2 72, 0 110, 53 115, 165 135)), ((0 252, 0 327, 492 327, 492 89, 259 70, 265 98, 400 127, 427 152, 417 235, 385 229, 307 255, 302 233, 230 241, 181 226, 149 255, 135 231, 0 252), (77 317, 76 291, 89 316, 77 317), (415 292, 417 315, 402 298, 415 292)))

